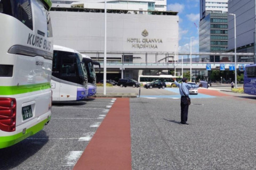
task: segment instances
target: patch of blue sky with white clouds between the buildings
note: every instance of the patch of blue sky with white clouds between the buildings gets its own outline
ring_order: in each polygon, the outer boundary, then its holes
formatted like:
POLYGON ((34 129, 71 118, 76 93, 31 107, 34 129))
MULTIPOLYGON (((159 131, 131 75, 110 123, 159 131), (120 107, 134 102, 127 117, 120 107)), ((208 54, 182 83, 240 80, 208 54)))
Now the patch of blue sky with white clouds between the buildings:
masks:
POLYGON ((167 0, 167 11, 178 11, 179 15, 179 52, 190 52, 190 37, 192 52, 199 51, 199 0, 167 0))

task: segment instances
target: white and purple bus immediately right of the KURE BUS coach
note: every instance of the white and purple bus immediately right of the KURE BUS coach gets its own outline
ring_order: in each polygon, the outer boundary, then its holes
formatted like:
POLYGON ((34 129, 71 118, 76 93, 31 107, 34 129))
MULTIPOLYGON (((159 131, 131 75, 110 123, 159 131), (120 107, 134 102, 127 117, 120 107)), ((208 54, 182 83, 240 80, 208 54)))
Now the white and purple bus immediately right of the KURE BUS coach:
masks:
POLYGON ((53 46, 52 100, 82 100, 88 96, 87 73, 77 50, 53 46))

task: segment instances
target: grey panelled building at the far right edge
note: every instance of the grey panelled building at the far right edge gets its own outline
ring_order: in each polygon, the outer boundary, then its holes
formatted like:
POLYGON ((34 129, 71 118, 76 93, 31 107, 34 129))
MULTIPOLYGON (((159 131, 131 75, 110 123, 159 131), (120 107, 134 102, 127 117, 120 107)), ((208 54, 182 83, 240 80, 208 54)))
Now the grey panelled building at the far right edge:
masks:
MULTIPOLYGON (((228 11, 236 15, 236 52, 254 53, 255 1, 228 1, 228 11)), ((234 15, 228 16, 228 50, 235 50, 234 15)), ((241 56, 238 62, 254 62, 254 57, 241 56)))

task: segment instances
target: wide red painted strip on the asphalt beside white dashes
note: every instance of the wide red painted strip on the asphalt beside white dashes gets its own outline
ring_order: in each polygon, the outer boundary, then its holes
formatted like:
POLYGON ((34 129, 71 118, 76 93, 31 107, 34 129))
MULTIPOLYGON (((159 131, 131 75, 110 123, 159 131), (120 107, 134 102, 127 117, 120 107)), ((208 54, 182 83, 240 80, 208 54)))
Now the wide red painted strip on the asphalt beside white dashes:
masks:
POLYGON ((74 170, 132 169, 130 99, 117 98, 74 170))

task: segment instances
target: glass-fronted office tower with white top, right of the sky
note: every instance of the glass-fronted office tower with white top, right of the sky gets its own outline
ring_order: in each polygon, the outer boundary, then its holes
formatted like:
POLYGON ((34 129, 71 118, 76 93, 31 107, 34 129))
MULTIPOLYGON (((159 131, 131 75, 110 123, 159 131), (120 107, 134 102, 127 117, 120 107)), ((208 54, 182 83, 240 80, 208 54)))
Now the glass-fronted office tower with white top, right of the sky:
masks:
MULTIPOLYGON (((199 52, 223 53, 228 47, 228 0, 201 0, 199 52)), ((201 56, 202 62, 227 62, 227 57, 201 56)))

